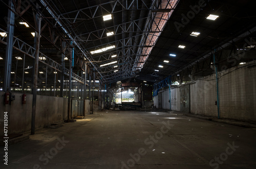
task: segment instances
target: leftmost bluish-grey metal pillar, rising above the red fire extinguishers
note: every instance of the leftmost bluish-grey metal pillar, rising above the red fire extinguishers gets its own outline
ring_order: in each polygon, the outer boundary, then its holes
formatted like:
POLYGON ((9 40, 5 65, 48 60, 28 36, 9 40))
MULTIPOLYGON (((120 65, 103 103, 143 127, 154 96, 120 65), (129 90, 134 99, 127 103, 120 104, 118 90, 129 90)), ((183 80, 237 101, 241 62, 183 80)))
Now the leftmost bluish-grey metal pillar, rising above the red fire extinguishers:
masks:
MULTIPOLYGON (((9 0, 9 7, 14 9, 13 1, 9 0)), ((12 68, 12 43, 14 35, 14 13, 8 10, 7 19, 7 46, 6 46, 6 59, 5 59, 5 80, 4 80, 4 91, 11 90, 11 68, 12 68)))

